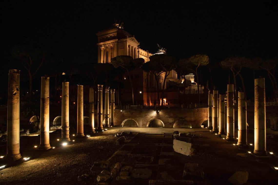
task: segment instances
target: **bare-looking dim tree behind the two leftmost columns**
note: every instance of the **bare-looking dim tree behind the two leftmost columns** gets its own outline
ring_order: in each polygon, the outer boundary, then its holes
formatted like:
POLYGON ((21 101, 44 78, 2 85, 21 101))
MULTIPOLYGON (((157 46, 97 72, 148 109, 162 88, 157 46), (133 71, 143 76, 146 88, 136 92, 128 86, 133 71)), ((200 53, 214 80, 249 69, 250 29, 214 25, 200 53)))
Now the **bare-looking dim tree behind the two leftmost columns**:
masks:
POLYGON ((29 92, 33 96, 33 77, 46 63, 46 54, 43 49, 32 45, 16 45, 11 49, 14 58, 21 60, 23 67, 28 71, 29 92))

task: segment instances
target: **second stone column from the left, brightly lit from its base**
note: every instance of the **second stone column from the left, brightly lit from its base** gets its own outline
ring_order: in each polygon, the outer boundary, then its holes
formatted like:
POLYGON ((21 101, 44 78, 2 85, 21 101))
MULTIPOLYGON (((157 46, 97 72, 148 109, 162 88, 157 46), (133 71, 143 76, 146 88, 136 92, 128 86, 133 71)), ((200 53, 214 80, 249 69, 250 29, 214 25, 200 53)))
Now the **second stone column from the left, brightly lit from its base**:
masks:
POLYGON ((40 149, 51 148, 49 144, 49 77, 41 77, 41 144, 40 149))

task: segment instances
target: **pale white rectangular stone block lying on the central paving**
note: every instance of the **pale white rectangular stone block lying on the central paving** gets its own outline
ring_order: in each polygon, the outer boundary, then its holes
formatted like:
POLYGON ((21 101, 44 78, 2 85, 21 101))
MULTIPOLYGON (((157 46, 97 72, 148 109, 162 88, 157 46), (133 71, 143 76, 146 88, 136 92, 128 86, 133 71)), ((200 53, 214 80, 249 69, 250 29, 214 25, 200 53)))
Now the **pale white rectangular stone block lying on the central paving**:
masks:
POLYGON ((194 145, 185 141, 174 140, 173 149, 177 153, 181 153, 186 156, 192 156, 196 153, 196 149, 193 149, 194 145))

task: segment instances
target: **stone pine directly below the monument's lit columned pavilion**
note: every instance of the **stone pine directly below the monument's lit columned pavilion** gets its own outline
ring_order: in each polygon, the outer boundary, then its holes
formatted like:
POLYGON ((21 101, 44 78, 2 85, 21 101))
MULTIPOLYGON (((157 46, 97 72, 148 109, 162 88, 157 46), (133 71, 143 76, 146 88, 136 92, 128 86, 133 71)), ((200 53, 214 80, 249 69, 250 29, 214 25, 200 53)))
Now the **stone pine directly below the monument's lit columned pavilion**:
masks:
POLYGON ((132 105, 134 105, 134 91, 133 91, 133 83, 131 80, 131 75, 133 73, 133 70, 141 67, 144 64, 144 59, 142 58, 133 59, 131 56, 119 55, 111 59, 111 64, 115 68, 118 67, 123 68, 125 72, 128 74, 130 87, 131 87, 131 94, 132 94, 132 105))

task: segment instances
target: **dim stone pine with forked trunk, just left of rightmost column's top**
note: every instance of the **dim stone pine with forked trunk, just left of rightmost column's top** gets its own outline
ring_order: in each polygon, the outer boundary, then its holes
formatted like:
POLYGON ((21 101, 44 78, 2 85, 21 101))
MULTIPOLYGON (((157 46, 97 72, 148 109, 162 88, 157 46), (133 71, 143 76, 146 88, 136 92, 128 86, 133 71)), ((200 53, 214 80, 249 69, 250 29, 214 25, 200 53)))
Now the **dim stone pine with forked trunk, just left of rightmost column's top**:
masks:
MULTIPOLYGON (((252 65, 251 60, 245 57, 227 57, 225 60, 222 60, 220 62, 221 67, 229 68, 233 74, 235 97, 238 97, 236 76, 237 75, 239 76, 242 84, 242 90, 244 92, 245 100, 246 100, 245 85, 244 85, 244 80, 242 78, 242 75, 240 74, 240 71, 243 67, 248 67, 250 65, 252 65)), ((237 98, 235 99, 237 101, 237 98)))

